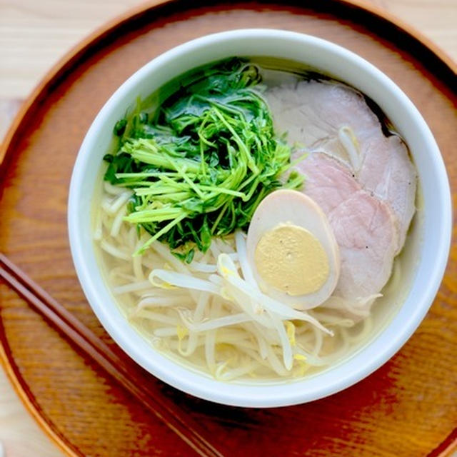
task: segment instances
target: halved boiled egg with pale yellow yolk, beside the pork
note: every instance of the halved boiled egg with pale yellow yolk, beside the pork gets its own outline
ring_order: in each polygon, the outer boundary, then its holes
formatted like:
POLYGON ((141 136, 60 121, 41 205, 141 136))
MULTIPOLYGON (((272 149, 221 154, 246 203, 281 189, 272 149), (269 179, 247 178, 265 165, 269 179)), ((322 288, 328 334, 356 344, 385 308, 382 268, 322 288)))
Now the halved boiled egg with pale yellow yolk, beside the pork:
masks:
POLYGON ((299 191, 281 189, 261 201, 246 248, 261 291, 293 308, 315 308, 336 287, 335 236, 320 206, 299 191))

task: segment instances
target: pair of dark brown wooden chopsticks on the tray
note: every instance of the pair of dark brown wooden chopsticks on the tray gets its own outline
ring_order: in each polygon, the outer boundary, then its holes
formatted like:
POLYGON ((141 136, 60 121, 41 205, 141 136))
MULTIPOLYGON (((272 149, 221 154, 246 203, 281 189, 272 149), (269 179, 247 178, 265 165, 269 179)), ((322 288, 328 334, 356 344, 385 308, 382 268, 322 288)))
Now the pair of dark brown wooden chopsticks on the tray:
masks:
POLYGON ((89 328, 84 326, 3 253, 0 253, 0 278, 4 278, 4 281, 28 301, 36 311, 39 311, 66 338, 69 338, 81 351, 96 361, 101 368, 104 368, 121 386, 124 386, 149 411, 171 428, 179 438, 194 449, 199 456, 224 457, 204 438, 200 426, 192 418, 188 416, 184 418, 182 411, 175 403, 169 401, 159 391, 153 391, 141 376, 129 371, 127 363, 122 358, 111 351, 109 346, 106 346, 89 328))

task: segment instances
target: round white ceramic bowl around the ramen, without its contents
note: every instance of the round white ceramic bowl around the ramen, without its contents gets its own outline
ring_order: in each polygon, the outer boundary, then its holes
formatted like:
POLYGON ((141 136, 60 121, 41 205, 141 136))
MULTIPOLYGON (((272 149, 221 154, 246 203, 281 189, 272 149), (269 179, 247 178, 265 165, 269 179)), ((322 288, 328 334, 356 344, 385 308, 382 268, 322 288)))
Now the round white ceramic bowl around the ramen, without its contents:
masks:
MULTIPOLYGON (((166 383, 235 406, 286 406, 341 391, 368 376, 393 356, 421 323, 431 306, 446 266, 451 239, 451 198, 436 142, 411 101, 381 71, 350 51, 313 36, 250 29, 204 36, 162 54, 132 75, 106 102, 81 146, 69 194, 69 237, 76 272, 96 316, 116 343, 137 363, 166 383), (113 126, 138 96, 146 97, 185 71, 229 56, 272 56, 308 64, 355 86, 381 107, 406 139, 423 192, 419 241, 413 246, 411 287, 395 316, 378 328, 363 348, 336 366, 309 378, 277 384, 221 383, 155 351, 129 326, 96 261, 91 201, 111 140, 113 126)), ((412 263, 411 263, 412 265, 412 263)))

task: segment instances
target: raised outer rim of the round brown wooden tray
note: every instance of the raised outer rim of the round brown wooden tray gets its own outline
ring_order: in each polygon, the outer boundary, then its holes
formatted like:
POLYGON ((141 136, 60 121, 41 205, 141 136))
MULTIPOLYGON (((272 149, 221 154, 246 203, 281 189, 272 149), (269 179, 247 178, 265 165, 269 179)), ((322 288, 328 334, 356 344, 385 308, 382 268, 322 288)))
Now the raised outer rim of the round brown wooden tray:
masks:
MULTIPOLYGON (((92 46, 96 46, 100 41, 104 39, 104 36, 109 35, 112 31, 119 28, 123 24, 128 23, 129 21, 134 21, 134 19, 147 14, 149 11, 152 11, 160 6, 169 6, 171 4, 182 4, 186 3, 189 6, 187 10, 193 9, 191 1, 180 1, 180 0, 149 0, 145 1, 143 4, 138 6, 132 6, 121 14, 114 16, 112 19, 104 22, 101 26, 98 26, 94 31, 91 31, 87 34, 81 41, 76 45, 72 46, 69 51, 61 56, 57 60, 46 74, 41 78, 38 84, 34 86, 31 93, 24 99, 21 103, 19 111, 14 116, 13 121, 11 122, 9 129, 6 131, 4 140, 0 144, 0 182, 4 181, 3 176, 6 174, 7 169, 9 168, 9 161, 11 157, 16 154, 14 151, 14 146, 19 140, 19 134, 21 130, 24 129, 24 124, 26 124, 26 119, 28 116, 31 116, 33 111, 36 109, 36 106, 39 106, 40 99, 44 98, 46 91, 52 88, 54 84, 59 84, 59 81, 62 77, 65 77, 66 70, 78 64, 80 59, 84 59, 86 51, 91 49, 92 46)), ((221 1, 214 2, 214 6, 217 4, 223 3, 221 1)), ((259 4, 262 3, 260 0, 259 4)), ((274 2, 264 2, 265 4, 274 3, 274 2)), ((293 2, 288 2, 293 3, 293 2)), ((383 9, 381 6, 368 3, 366 0, 331 0, 332 4, 343 6, 344 8, 355 8, 365 13, 368 13, 372 16, 376 16, 377 19, 381 21, 386 21, 391 25, 395 26, 397 29, 401 30, 403 33, 406 33, 408 36, 416 41, 420 46, 428 49, 435 57, 437 57, 444 66, 446 66, 453 74, 457 76, 457 61, 454 61, 451 56, 449 56, 446 51, 441 49, 440 46, 435 44, 431 39, 425 36, 421 31, 418 31, 416 27, 411 26, 403 19, 399 19, 397 16, 392 14, 386 9, 383 9)), ((187 5, 186 5, 187 6, 187 5)), ((198 4, 196 6, 199 6, 198 4)), ((303 5, 304 6, 304 5, 303 5)), ((454 94, 457 94, 457 89, 446 85, 448 89, 451 89, 454 94)), ((3 193, 4 186, 0 185, 0 197, 3 193)), ((12 289, 11 289, 12 290, 12 289)), ((22 300, 22 298, 21 298, 22 300)), ((81 454, 79 451, 76 452, 70 445, 66 442, 64 436, 61 436, 60 433, 54 430, 51 426, 51 423, 46 421, 46 418, 41 415, 39 405, 34 401, 34 395, 29 392, 29 389, 26 386, 24 379, 19 375, 19 370, 14 361, 14 356, 9 350, 9 342, 6 339, 4 334, 3 323, 0 317, 0 366, 4 368, 7 378, 13 386, 14 391, 19 396, 21 403, 25 406, 26 410, 29 411, 34 421, 37 425, 44 431, 45 435, 51 438, 51 442, 63 451, 66 456, 69 457, 80 457, 81 454)), ((437 456, 437 457, 446 457, 451 456, 451 452, 457 447, 457 441, 453 439, 453 436, 456 435, 457 428, 451 432, 449 436, 443 438, 443 441, 428 454, 428 456, 437 456), (451 444, 448 446, 449 439, 451 438, 451 444), (444 446, 443 446, 444 445, 444 446), (439 452, 438 454, 436 452, 439 452)))

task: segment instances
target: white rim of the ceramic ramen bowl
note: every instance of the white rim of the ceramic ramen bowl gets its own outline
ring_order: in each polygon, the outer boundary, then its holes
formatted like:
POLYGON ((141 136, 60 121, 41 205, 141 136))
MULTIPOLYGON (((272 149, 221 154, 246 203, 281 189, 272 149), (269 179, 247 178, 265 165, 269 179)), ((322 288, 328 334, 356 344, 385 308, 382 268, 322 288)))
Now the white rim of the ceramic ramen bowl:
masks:
MULTIPOLYGON (((87 131, 84 141, 81 144, 81 149, 76 157, 69 188, 68 226, 71 256, 84 294, 92 310, 111 338, 136 363, 139 363, 146 371, 149 371, 149 373, 160 378, 162 381, 169 383, 171 386, 216 403, 245 407, 288 406, 329 396, 361 381, 361 379, 382 366, 383 363, 386 363, 416 330, 426 315, 428 308, 430 308, 433 298, 436 296, 444 269, 446 268, 451 245, 451 193, 443 159, 426 122, 406 94, 388 76, 376 69, 375 66, 353 52, 348 51, 348 49, 333 44, 331 41, 317 38, 316 36, 276 29, 237 29, 201 36, 166 51, 131 75, 129 79, 119 86, 119 89, 114 92, 109 100, 106 101, 106 104, 104 104, 91 124, 89 131, 87 131), (384 88, 387 88, 389 94, 394 94, 398 103, 405 106, 405 109, 411 114, 414 123, 421 129, 425 141, 424 147, 427 151, 430 151, 433 170, 439 177, 436 184, 438 191, 436 198, 441 203, 439 207, 441 209, 439 212, 439 216, 441 217, 441 238, 437 241, 437 250, 434 256, 435 268, 433 268, 428 276, 428 283, 423 284, 420 296, 416 297, 418 306, 413 308, 412 313, 409 313, 408 316, 402 316, 401 310, 404 308, 402 306, 388 323, 388 326, 383 328, 373 341, 370 341, 360 351, 349 356, 342 363, 331 368, 330 371, 326 370, 321 374, 298 381, 280 381, 273 385, 246 385, 216 381, 209 376, 184 367, 171 358, 159 353, 159 351, 153 349, 151 352, 151 346, 149 345, 147 346, 149 353, 146 353, 146 341, 144 341, 143 337, 131 328, 123 328, 123 324, 119 321, 119 316, 121 316, 119 308, 119 315, 114 316, 110 313, 110 310, 113 311, 112 306, 117 307, 116 303, 114 303, 114 298, 111 296, 109 306, 104 305, 106 296, 102 293, 103 291, 98 290, 97 286, 100 284, 97 285, 93 276, 94 271, 91 271, 91 267, 96 268, 96 266, 94 266, 93 261, 92 263, 88 262, 87 258, 87 246, 92 246, 92 250, 94 250, 94 243, 91 241, 90 233, 85 233, 79 223, 80 211, 84 211, 80 205, 81 189, 84 188, 84 171, 89 166, 91 151, 96 146, 99 130, 103 127, 113 107, 121 102, 122 96, 134 89, 139 81, 146 78, 152 71, 170 64, 180 56, 188 55, 189 52, 205 51, 205 49, 217 46, 218 44, 236 42, 240 39, 274 39, 289 45, 314 46, 316 49, 325 51, 331 56, 338 56, 338 58, 346 61, 348 65, 362 69, 366 75, 370 76, 371 81, 375 81, 384 88), (401 331, 398 331, 397 328, 399 318, 407 318, 406 323, 400 326, 401 331), (393 325, 395 322, 396 325, 393 325), (385 341, 388 341, 388 345, 384 344, 385 341), (361 361, 364 361, 364 363, 359 364, 361 361), (329 375, 329 373, 333 374, 329 375), (286 388, 286 386, 294 386, 296 388, 286 388)), ((125 324, 126 322, 124 326, 125 324)))

